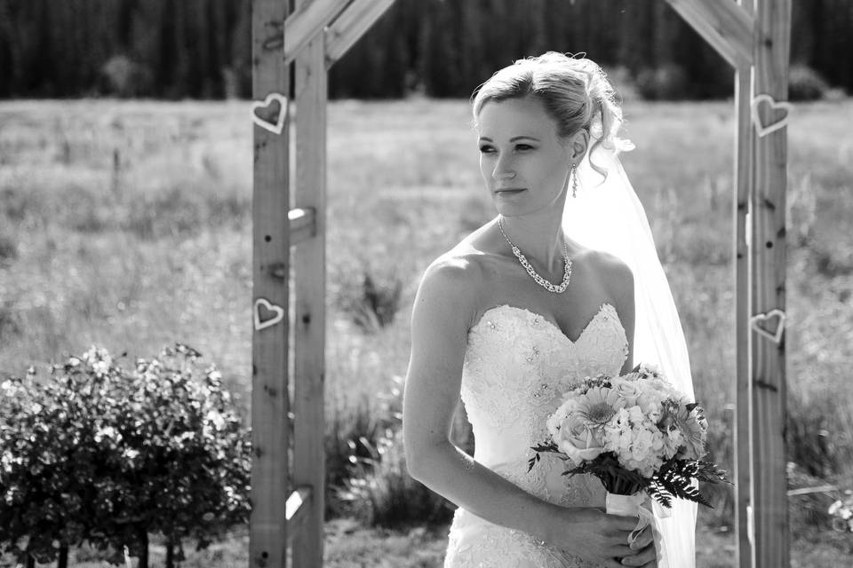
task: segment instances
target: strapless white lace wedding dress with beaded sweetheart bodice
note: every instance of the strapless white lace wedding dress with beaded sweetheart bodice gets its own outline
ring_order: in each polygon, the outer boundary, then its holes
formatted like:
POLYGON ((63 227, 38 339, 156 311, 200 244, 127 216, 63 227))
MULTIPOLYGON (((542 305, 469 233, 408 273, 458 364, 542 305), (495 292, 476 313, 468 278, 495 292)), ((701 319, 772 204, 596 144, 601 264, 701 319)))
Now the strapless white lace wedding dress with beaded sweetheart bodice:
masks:
MULTIPOLYGON (((601 481, 565 477, 562 461, 543 456, 528 473, 530 446, 544 441, 546 420, 569 383, 618 375, 628 353, 616 309, 602 304, 576 341, 545 317, 510 305, 490 308, 468 333, 461 395, 474 431, 474 460, 540 499, 564 507, 603 507, 601 481)), ((459 508, 450 525, 445 568, 592 568, 459 508)))

